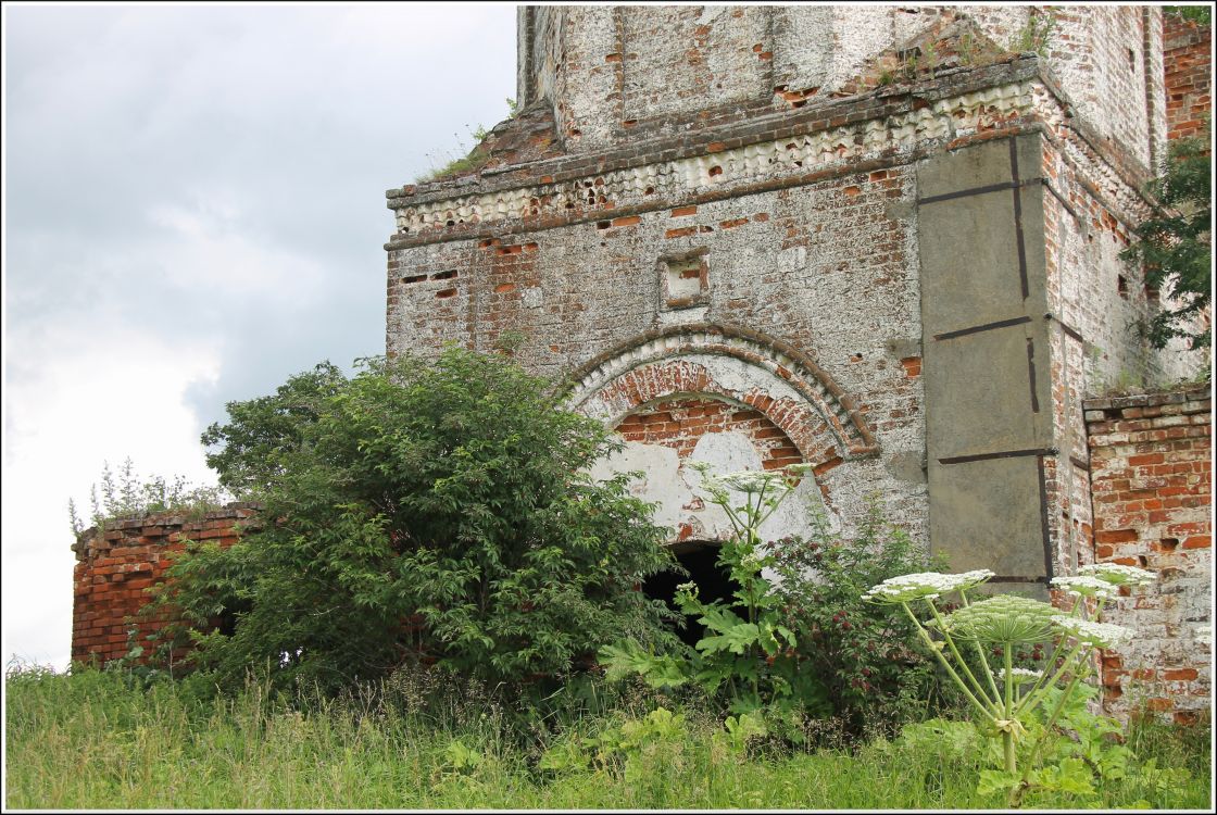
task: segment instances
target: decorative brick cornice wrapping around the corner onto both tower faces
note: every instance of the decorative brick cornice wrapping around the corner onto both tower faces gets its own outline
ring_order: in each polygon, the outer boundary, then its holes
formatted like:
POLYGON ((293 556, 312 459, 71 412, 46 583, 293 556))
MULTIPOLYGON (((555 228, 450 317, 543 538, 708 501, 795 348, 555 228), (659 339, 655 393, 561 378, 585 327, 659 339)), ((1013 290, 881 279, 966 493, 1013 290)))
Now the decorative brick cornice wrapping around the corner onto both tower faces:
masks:
POLYGON ((1045 133, 1087 191, 1126 224, 1145 212, 1145 172, 1098 139, 1033 56, 957 68, 815 108, 731 122, 479 176, 389 190, 398 232, 386 249, 533 231, 814 184, 915 161, 994 134, 1045 133))

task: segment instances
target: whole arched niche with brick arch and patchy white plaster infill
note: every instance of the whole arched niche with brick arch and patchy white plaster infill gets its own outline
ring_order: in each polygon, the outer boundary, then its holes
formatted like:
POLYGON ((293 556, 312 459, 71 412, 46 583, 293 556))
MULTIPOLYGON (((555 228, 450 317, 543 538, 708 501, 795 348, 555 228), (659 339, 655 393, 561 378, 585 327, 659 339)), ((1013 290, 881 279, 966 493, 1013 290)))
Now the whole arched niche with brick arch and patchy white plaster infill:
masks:
POLYGON ((598 356, 572 376, 566 405, 612 427, 624 450, 594 472, 641 471, 635 494, 658 504, 673 540, 723 539, 730 525, 706 506, 700 473, 811 463, 767 539, 809 530, 809 510, 832 521, 834 471, 877 446, 853 401, 806 355, 756 332, 723 326, 656 331, 598 356))

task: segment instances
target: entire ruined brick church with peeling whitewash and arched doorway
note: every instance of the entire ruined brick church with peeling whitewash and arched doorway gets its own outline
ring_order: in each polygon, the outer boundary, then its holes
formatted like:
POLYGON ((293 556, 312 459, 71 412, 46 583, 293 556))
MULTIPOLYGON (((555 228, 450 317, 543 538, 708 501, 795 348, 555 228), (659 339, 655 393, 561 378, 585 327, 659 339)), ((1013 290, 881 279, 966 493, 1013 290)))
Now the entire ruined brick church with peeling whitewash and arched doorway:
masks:
MULTIPOLYGON (((1211 403, 1084 401, 1196 364, 1150 349, 1138 326, 1157 292, 1118 259, 1168 137, 1208 109, 1207 32, 1163 19, 522 7, 518 114, 475 169, 387 193, 387 352, 504 349, 563 381, 566 404, 626 443, 601 467, 645 472, 638 494, 682 552, 725 532, 691 462, 802 462, 813 477, 772 539, 808 506, 848 534, 877 496, 952 570, 991 568, 1000 589, 1043 592, 1097 558, 1176 569, 1157 605, 1128 605, 1152 634, 1103 681, 1110 701, 1154 665, 1157 709, 1194 715, 1211 403), (1151 511, 1120 491, 1159 476, 1187 500, 1151 511)), ((123 534, 82 545, 78 575, 123 534)), ((79 586, 77 630, 101 631, 79 586)), ((74 635, 73 656, 89 642, 74 635)))

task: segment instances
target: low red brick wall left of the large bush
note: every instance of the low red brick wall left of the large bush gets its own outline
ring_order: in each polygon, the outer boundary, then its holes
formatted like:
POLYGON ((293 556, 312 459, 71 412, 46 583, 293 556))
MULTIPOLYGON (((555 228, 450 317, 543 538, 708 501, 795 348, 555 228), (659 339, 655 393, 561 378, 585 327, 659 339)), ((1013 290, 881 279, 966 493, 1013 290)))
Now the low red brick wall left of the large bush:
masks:
MULTIPOLYGON (((72 661, 105 664, 130 648, 129 630, 134 616, 147 605, 148 586, 164 577, 172 552, 186 540, 218 540, 231 545, 242 523, 254 515, 252 504, 230 504, 223 510, 191 518, 181 512, 161 512, 141 518, 112 521, 105 530, 89 529, 73 549, 72 661)), ((151 652, 142 637, 162 629, 168 620, 141 618, 139 645, 151 652)), ((175 654, 180 656, 180 654, 175 654)))

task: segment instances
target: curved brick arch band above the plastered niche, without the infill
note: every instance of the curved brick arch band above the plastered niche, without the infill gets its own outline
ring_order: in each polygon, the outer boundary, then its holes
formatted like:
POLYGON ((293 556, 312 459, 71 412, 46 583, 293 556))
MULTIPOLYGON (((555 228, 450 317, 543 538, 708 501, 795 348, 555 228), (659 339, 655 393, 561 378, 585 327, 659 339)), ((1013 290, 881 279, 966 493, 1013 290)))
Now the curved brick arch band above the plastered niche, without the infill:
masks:
POLYGON ((853 401, 824 371, 790 345, 744 328, 649 332, 576 371, 566 405, 617 427, 650 403, 697 394, 759 411, 817 467, 879 451, 853 401))

